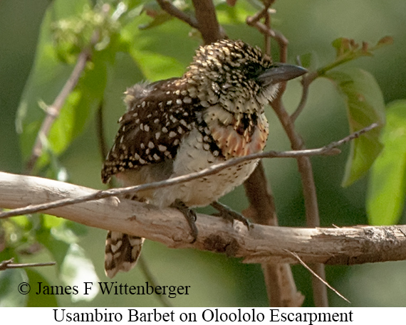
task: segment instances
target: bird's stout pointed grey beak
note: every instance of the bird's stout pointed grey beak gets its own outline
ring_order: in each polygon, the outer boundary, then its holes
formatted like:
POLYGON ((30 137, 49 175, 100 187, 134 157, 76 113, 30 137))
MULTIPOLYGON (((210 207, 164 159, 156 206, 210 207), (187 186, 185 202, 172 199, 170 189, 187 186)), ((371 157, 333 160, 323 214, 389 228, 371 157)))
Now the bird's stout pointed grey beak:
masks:
POLYGON ((269 85, 275 85, 279 82, 298 78, 307 72, 308 70, 299 67, 298 65, 275 63, 272 68, 269 68, 264 73, 261 73, 258 78, 266 87, 269 85))

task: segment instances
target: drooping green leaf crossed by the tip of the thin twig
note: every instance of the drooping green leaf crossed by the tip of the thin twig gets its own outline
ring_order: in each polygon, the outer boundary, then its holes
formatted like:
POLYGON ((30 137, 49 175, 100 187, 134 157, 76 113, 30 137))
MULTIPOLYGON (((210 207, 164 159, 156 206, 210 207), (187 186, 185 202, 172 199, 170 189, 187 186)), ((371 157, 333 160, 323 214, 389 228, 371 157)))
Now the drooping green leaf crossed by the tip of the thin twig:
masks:
POLYGON ((378 127, 351 142, 345 167, 343 186, 349 186, 364 176, 382 150, 379 135, 385 123, 382 92, 373 75, 358 68, 326 73, 345 98, 350 132, 356 132, 377 122, 378 127))

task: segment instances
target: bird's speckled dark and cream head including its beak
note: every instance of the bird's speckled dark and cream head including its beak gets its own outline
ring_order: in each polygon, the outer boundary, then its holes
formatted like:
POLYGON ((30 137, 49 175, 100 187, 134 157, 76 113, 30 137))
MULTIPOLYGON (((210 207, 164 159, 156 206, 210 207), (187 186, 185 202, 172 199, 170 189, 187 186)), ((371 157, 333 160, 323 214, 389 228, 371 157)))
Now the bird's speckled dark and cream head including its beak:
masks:
POLYGON ((306 72, 296 65, 272 63, 258 47, 224 39, 201 46, 184 78, 195 92, 192 95, 241 112, 251 104, 263 107, 274 98, 280 82, 306 72))

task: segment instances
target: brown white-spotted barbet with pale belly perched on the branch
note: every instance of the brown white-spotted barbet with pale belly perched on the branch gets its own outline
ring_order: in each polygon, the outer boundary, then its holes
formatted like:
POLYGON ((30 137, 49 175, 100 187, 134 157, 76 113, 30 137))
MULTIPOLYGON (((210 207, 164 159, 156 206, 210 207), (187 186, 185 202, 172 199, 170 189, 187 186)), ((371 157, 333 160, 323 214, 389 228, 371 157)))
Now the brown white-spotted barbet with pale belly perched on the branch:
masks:
MULTIPOLYGON (((258 47, 222 39, 200 46, 180 78, 140 82, 125 92, 127 111, 101 171, 103 183, 115 176, 134 186, 200 171, 222 161, 264 150, 269 134, 266 105, 281 82, 307 72, 274 63, 258 47)), ((187 217, 241 185, 258 159, 187 183, 137 192, 137 199, 174 206, 187 217)), ((114 277, 135 266, 144 238, 109 231, 105 273, 114 277)))

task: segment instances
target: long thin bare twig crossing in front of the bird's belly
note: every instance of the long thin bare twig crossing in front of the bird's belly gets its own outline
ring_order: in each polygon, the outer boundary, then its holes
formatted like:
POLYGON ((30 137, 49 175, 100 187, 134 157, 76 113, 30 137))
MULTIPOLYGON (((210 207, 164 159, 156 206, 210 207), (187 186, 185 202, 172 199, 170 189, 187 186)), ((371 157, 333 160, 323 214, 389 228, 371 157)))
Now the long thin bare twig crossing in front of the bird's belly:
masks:
MULTIPOLYGON (((371 125, 370 127, 368 127, 368 129, 373 129, 374 127, 377 127, 377 126, 378 126, 378 124, 371 125)), ((249 161, 249 160, 253 160, 253 159, 260 159, 260 158, 296 158, 297 159, 298 157, 300 158, 303 156, 308 157, 308 156, 338 154, 340 151, 335 147, 337 144, 342 145, 342 144, 350 141, 350 139, 353 139, 354 137, 358 137, 358 135, 356 135, 356 134, 362 134, 363 132, 364 132, 364 129, 362 129, 358 132, 355 132, 355 134, 351 135, 350 137, 346 137, 345 139, 342 139, 338 142, 332 142, 331 144, 328 144, 327 146, 323 146, 318 149, 305 149, 305 150, 281 151, 281 152, 267 151, 267 152, 262 152, 259 154, 250 154, 248 156, 242 156, 239 158, 230 159, 230 160, 224 161, 220 164, 215 164, 213 166, 209 166, 207 169, 202 169, 201 171, 196 171, 191 174, 177 176, 172 179, 167 179, 165 181, 157 181, 157 182, 153 182, 153 183, 146 183, 146 184, 142 184, 142 185, 130 186, 130 187, 125 187, 125 188, 111 188, 111 189, 108 189, 105 191, 97 191, 90 195, 80 196, 78 198, 68 198, 68 199, 43 203, 43 204, 37 204, 34 206, 28 206, 26 208, 14 209, 11 211, 6 211, 3 213, 0 213, 0 219, 9 218, 14 215, 36 213, 36 212, 48 210, 51 208, 57 208, 60 206, 67 206, 67 205, 71 205, 71 204, 82 203, 85 201, 99 200, 100 198, 108 198, 110 196, 121 196, 121 195, 124 195, 127 193, 135 193, 138 191, 145 191, 145 190, 150 190, 150 189, 155 189, 155 188, 172 186, 172 185, 175 185, 178 183, 192 181, 193 179, 198 179, 198 178, 201 178, 204 176, 217 174, 219 171, 222 171, 223 169, 226 169, 231 166, 235 166, 237 164, 241 164, 241 163, 244 163, 245 161, 249 161)))

